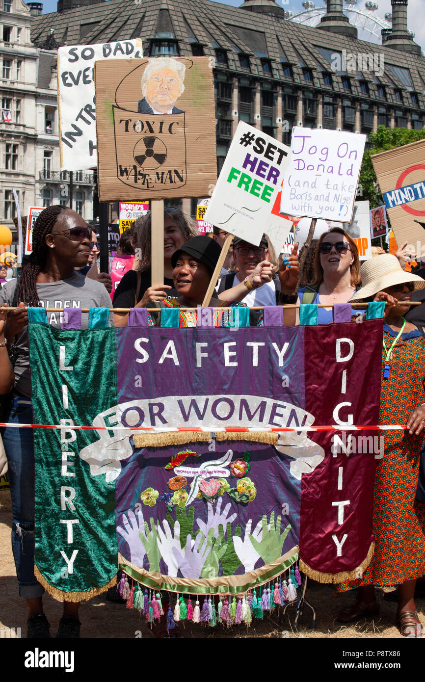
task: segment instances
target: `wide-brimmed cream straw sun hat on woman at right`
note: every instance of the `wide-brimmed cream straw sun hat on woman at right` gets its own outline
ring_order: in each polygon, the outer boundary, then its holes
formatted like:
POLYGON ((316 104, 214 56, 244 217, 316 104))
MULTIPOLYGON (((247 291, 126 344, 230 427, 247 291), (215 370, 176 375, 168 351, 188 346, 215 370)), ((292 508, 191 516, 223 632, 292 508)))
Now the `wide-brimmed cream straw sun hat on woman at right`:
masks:
POLYGON ((392 254, 381 254, 381 256, 369 258, 360 267, 360 277, 363 286, 351 297, 350 301, 362 301, 377 294, 378 291, 383 291, 388 286, 405 282, 414 282, 415 290, 425 287, 425 280, 403 270, 396 256, 392 254))

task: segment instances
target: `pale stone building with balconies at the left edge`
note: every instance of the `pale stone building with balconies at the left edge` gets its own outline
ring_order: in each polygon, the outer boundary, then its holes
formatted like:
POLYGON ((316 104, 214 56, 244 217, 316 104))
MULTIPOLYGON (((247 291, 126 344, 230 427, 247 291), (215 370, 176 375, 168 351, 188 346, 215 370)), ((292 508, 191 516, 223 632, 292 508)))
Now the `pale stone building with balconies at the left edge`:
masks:
MULTIPOLYGON (((31 42, 32 14, 42 5, 0 0, 0 223, 13 226, 18 194, 20 211, 29 206, 68 203, 66 173, 59 171, 57 119, 57 44, 31 42)), ((50 39, 49 39, 50 38, 50 39)), ((93 174, 76 173, 74 207, 93 217, 93 174)))

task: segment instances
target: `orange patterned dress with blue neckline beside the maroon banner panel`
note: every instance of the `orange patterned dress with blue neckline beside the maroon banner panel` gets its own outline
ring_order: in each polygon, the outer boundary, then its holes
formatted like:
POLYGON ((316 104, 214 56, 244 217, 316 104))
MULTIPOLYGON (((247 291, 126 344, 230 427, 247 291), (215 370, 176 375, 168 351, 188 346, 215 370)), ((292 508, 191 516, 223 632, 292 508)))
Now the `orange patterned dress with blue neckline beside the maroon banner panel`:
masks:
MULTIPOLYGON (((383 329, 389 350, 397 334, 385 324, 383 329)), ((383 352, 382 368, 384 364, 383 352)), ((411 411, 425 402, 425 340, 420 331, 402 334, 390 366, 390 376, 382 379, 379 424, 406 424, 411 411)), ((377 462, 374 494, 375 554, 363 577, 340 584, 340 592, 367 584, 395 585, 425 574, 425 505, 415 502, 424 432, 381 435, 384 455, 377 462)))

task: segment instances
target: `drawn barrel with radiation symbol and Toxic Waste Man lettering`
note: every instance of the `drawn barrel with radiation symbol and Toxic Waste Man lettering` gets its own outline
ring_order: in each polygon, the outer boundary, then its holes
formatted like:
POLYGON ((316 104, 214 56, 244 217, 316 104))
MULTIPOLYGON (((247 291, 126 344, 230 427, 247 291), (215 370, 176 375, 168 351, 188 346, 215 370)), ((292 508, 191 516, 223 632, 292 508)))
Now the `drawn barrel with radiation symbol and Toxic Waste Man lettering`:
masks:
POLYGON ((141 191, 186 184, 185 114, 132 113, 113 106, 117 178, 141 191))

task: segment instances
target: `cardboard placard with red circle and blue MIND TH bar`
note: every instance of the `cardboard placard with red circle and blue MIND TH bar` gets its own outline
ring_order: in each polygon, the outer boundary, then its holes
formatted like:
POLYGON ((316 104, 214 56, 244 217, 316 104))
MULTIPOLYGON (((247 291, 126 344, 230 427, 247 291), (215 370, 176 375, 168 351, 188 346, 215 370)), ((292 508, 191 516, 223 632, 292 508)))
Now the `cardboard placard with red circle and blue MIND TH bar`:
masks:
POLYGON ((371 157, 398 244, 408 241, 418 253, 425 246, 425 140, 371 157), (417 247, 420 242, 420 247, 417 247))

